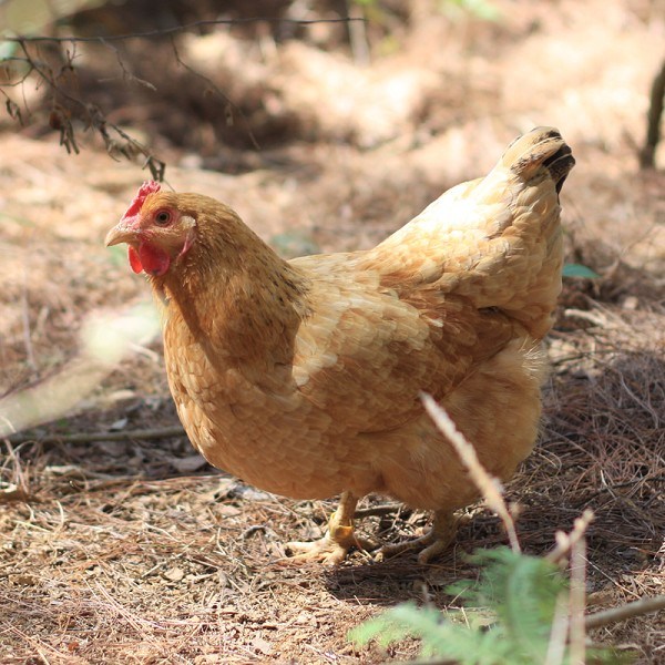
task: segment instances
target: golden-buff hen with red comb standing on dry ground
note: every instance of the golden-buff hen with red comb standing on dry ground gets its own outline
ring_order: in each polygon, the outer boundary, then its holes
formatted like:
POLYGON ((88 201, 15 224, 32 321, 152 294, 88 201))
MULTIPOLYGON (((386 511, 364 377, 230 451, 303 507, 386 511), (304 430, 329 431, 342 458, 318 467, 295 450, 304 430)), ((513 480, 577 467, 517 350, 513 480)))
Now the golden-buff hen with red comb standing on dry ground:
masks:
POLYGON ((369 492, 433 511, 420 562, 447 546, 479 492, 422 391, 493 475, 529 454, 573 165, 556 130, 535 129, 369 250, 287 262, 226 205, 154 182, 110 231, 164 303, 168 383, 196 449, 269 492, 341 492, 324 539, 290 544, 300 557, 369 546, 354 531, 369 492))

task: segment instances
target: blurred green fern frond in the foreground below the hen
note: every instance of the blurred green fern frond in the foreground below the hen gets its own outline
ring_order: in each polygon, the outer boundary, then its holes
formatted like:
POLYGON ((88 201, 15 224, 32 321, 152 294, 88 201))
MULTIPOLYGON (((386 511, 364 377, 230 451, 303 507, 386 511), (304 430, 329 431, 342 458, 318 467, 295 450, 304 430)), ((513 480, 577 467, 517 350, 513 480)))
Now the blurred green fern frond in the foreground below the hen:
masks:
MULTIPOLYGON (((556 565, 509 548, 481 551, 471 560, 481 566, 477 583, 447 589, 466 603, 443 616, 433 607, 398 605, 349 632, 365 645, 386 647, 405 637, 421 641, 421 657, 451 658, 460 665, 539 665, 546 662, 559 600, 567 580, 556 565)), ((607 651, 590 652, 590 663, 618 663, 607 651)), ((564 659, 567 664, 567 657, 564 659)))

